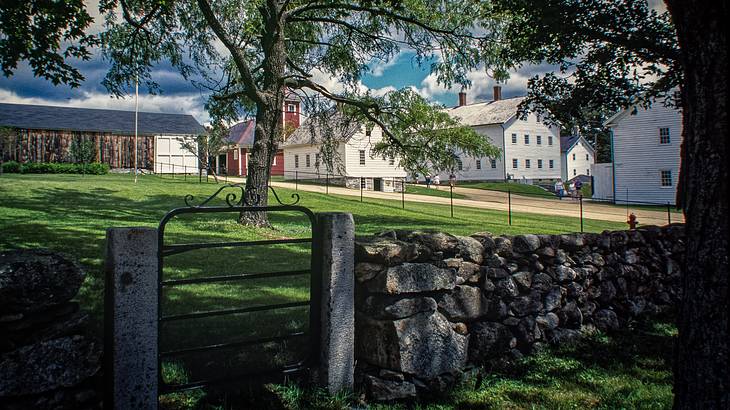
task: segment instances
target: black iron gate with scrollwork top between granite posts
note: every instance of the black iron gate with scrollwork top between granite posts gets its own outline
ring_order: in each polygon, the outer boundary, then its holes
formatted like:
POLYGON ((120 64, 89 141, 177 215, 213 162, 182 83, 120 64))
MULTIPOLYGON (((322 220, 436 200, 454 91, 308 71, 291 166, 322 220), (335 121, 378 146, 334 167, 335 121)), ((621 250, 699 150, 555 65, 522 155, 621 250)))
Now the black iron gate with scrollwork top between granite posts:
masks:
POLYGON ((273 199, 276 200, 278 205, 275 206, 259 206, 260 196, 258 194, 251 194, 246 192, 245 187, 242 184, 230 184, 225 185, 218 189, 213 195, 204 200, 198 205, 191 204, 194 201, 192 195, 185 197, 186 207, 176 208, 168 212, 164 218, 160 221, 159 225, 159 272, 158 272, 158 369, 159 369, 159 392, 160 394, 170 393, 174 391, 181 391, 187 389, 193 389, 204 386, 230 384, 232 382, 245 381, 246 379, 259 378, 262 376, 275 376, 275 375, 292 375, 301 373, 302 371, 311 368, 316 364, 319 355, 319 339, 320 339, 320 299, 321 299, 321 269, 317 266, 318 258, 316 258, 316 244, 317 244, 317 230, 315 229, 315 217, 311 210, 308 208, 296 205, 299 202, 299 196, 292 194, 293 202, 290 204, 284 204, 279 199, 277 193, 271 188, 273 199), (225 197, 220 199, 225 200, 223 206, 206 206, 227 189, 235 190, 235 193, 227 193, 225 197), (238 193, 240 190, 240 193, 238 193), (269 215, 275 213, 295 213, 303 215, 309 223, 311 236, 305 238, 293 238, 293 239, 264 239, 264 240, 249 240, 249 241, 224 241, 224 242, 203 242, 203 243, 177 243, 169 244, 165 242, 165 228, 167 224, 173 220, 173 218, 186 215, 186 214, 239 214, 246 212, 267 212, 269 215), (286 244, 301 244, 309 243, 310 255, 308 268, 306 269, 292 269, 292 270, 279 270, 279 271, 268 271, 268 272, 241 272, 237 274, 218 275, 218 276, 202 276, 195 278, 178 278, 170 279, 166 278, 164 274, 165 260, 172 255, 178 255, 185 252, 190 252, 200 249, 214 249, 214 248, 240 248, 241 251, 250 249, 251 247, 265 247, 267 245, 286 245, 286 244), (291 277, 309 275, 309 300, 307 301, 293 301, 287 303, 273 303, 273 304, 257 304, 255 306, 246 307, 235 307, 226 309, 212 309, 205 311, 195 311, 189 313, 178 313, 168 314, 165 312, 163 306, 163 300, 165 292, 181 286, 189 285, 200 285, 200 284, 220 284, 220 283, 231 283, 231 282, 242 282, 242 281, 255 281, 267 278, 282 278, 282 280, 290 279, 291 277), (307 329, 290 332, 286 334, 277 335, 266 335, 263 337, 256 338, 245 338, 234 341, 227 341, 224 343, 205 343, 198 346, 187 346, 181 349, 170 349, 163 350, 163 328, 167 324, 179 323, 181 321, 196 320, 202 318, 211 317, 230 317, 231 315, 240 314, 254 314, 254 313, 265 313, 271 312, 278 309, 288 309, 296 307, 309 307, 308 313, 308 327, 307 329), (303 342, 302 342, 303 341, 303 342), (260 346, 271 343, 299 343, 298 347, 301 348, 301 343, 305 343, 304 353, 302 357, 299 357, 296 361, 291 363, 281 364, 272 368, 246 368, 248 366, 239 366, 238 370, 231 371, 230 369, 221 371, 215 377, 202 377, 196 378, 193 374, 191 379, 183 381, 168 382, 163 377, 163 367, 169 361, 175 360, 175 358, 191 356, 191 355, 211 355, 213 352, 227 351, 240 352, 252 346, 260 346))

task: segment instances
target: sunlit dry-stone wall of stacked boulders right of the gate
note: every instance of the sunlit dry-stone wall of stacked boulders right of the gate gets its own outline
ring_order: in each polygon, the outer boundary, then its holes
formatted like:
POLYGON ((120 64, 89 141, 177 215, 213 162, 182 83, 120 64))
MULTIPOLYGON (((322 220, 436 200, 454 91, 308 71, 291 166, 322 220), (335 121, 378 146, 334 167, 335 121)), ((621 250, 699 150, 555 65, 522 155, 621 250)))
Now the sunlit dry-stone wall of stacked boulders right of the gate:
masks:
POLYGON ((465 368, 671 312, 684 226, 356 242, 358 379, 374 399, 441 390, 465 368))

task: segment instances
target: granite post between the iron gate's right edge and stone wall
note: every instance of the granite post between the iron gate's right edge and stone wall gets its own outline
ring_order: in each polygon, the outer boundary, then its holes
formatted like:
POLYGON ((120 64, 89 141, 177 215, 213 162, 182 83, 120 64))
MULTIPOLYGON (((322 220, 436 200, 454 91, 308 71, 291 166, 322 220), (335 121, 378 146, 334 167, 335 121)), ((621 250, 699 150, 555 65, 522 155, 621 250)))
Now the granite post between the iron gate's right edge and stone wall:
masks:
POLYGON ((322 272, 319 379, 330 393, 351 390, 355 372, 355 222, 352 214, 317 214, 322 272))

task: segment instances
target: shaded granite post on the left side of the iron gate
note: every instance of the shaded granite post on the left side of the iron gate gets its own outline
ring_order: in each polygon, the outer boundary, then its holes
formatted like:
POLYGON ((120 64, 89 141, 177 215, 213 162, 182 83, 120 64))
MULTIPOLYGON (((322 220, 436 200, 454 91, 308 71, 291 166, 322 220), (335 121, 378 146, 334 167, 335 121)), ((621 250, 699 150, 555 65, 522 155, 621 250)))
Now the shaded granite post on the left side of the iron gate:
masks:
POLYGON ((106 233, 107 409, 157 409, 157 229, 106 233))

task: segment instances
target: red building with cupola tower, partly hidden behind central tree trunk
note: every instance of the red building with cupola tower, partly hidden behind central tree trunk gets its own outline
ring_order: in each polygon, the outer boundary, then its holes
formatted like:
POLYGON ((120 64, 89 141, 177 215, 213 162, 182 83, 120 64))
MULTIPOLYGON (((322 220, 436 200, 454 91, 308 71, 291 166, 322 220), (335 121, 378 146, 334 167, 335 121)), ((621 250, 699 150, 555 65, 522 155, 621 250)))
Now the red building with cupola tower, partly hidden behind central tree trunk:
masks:
MULTIPOLYGON (((301 102, 294 93, 289 93, 282 110, 283 121, 287 128, 299 128, 301 102)), ((218 172, 227 175, 246 176, 248 158, 251 155, 256 121, 247 120, 231 127, 228 140, 232 147, 218 156, 218 172)), ((271 164, 271 175, 284 175, 284 151, 279 149, 271 164)))

